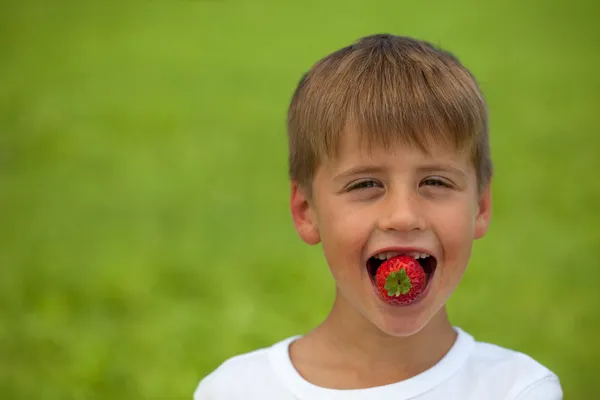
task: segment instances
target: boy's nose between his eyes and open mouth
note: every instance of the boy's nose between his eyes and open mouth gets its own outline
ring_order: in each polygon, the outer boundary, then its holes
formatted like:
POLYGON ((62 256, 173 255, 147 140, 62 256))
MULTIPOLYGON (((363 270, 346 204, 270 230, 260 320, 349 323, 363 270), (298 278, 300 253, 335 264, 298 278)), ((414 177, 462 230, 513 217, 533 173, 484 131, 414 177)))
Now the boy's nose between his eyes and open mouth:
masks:
POLYGON ((401 190, 388 193, 382 204, 378 228, 382 231, 410 232, 426 227, 419 194, 401 190))

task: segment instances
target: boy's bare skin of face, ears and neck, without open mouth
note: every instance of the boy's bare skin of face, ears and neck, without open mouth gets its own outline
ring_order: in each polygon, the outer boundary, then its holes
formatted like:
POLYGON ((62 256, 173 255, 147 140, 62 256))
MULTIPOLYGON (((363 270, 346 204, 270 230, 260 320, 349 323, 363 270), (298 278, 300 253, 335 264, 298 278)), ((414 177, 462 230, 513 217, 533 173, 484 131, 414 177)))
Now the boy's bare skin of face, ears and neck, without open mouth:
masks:
POLYGON ((310 198, 291 184, 294 225, 304 242, 322 245, 336 297, 323 323, 292 343, 290 357, 305 379, 334 389, 405 380, 448 352, 456 333, 445 304, 491 217, 490 186, 478 191, 468 154, 364 148, 348 129, 338 156, 317 169, 310 198), (383 303, 367 273, 369 256, 394 247, 437 260, 427 296, 410 306, 383 303))

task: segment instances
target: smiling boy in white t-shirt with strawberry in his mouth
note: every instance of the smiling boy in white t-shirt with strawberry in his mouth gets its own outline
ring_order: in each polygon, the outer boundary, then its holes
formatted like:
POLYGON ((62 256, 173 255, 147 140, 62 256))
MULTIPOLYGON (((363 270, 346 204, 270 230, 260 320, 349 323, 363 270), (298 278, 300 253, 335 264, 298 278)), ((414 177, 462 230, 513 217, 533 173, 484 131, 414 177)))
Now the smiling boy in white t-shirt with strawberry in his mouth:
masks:
POLYGON ((319 61, 288 115, 290 208, 336 283, 325 321, 224 362, 196 400, 559 400, 557 376, 448 320, 491 216, 483 96, 451 54, 373 35, 319 61))

